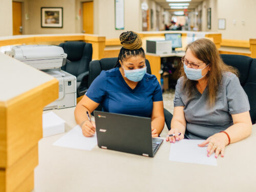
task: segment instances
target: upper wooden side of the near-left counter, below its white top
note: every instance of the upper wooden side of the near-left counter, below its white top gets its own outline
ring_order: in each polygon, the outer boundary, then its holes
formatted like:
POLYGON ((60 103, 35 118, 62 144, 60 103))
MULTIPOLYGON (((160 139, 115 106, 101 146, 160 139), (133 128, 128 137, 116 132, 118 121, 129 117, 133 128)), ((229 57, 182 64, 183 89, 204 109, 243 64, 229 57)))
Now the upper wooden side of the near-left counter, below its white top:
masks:
POLYGON ((42 109, 58 98, 58 81, 53 79, 42 86, 19 95, 3 104, 1 118, 0 167, 9 167, 24 156, 42 138, 42 109))

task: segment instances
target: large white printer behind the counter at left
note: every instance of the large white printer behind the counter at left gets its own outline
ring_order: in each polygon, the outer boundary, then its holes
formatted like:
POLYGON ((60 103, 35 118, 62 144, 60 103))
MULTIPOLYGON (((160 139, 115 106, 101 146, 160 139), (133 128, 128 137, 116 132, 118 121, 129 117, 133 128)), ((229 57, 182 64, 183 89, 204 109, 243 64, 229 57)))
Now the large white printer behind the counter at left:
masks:
MULTIPOLYGON (((25 45, 13 46, 5 54, 44 71, 59 81, 59 97, 44 110, 76 106, 76 77, 60 68, 66 64, 67 54, 58 46, 25 45)), ((50 94, 50 93, 49 93, 50 94)))

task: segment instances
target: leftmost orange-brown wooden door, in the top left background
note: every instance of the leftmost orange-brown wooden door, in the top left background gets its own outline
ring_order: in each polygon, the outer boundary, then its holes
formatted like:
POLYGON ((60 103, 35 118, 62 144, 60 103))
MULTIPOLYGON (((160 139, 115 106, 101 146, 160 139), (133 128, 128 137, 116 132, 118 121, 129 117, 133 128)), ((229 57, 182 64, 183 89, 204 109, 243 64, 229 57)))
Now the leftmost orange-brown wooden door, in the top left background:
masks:
POLYGON ((22 35, 22 3, 12 2, 12 34, 22 35))

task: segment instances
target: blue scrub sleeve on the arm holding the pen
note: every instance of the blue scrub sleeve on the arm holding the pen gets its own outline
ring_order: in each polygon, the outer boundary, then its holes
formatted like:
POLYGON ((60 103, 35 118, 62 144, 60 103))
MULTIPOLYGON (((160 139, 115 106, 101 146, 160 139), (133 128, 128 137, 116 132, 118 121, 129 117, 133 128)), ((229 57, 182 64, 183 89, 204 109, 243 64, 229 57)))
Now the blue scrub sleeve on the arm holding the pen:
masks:
POLYGON ((101 71, 98 77, 94 79, 86 95, 96 103, 101 103, 106 93, 106 71, 101 71))

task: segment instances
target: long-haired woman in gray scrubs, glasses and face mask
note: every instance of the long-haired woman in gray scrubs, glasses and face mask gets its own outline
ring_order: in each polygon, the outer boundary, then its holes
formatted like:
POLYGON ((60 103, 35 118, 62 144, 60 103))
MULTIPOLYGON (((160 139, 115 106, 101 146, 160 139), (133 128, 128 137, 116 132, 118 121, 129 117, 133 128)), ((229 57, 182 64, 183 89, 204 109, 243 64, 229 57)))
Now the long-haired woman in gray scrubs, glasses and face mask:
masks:
POLYGON ((175 91, 174 115, 166 141, 206 139, 207 156, 224 157, 225 146, 251 134, 249 102, 238 72, 221 60, 205 38, 186 47, 175 91))

